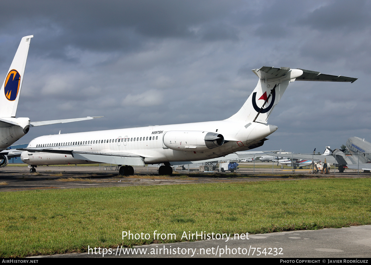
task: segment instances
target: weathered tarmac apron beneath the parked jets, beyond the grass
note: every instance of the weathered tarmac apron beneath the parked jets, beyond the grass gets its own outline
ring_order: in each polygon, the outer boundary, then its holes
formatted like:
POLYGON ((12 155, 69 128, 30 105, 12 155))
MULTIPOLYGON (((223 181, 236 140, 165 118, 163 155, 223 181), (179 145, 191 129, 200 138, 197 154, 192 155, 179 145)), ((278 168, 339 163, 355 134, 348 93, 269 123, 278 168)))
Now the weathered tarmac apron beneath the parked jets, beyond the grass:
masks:
MULTIPOLYGON (((276 169, 256 169, 260 174, 254 174, 251 168, 241 168, 238 174, 231 173, 199 173, 195 171, 180 171, 169 177, 159 177, 156 167, 137 167, 134 176, 123 177, 118 171, 104 170, 110 167, 101 166, 50 166, 38 167, 36 173, 30 173, 25 166, 7 166, 0 170, 0 191, 22 191, 30 189, 66 189, 91 187, 124 187, 137 185, 173 185, 216 182, 246 182, 262 180, 290 180, 300 174, 303 178, 317 177, 370 177, 370 173, 345 172, 342 174, 308 174, 308 170, 287 172, 276 169), (306 174, 303 174, 306 173, 306 174)), ((112 167, 114 169, 115 167, 112 167)))

